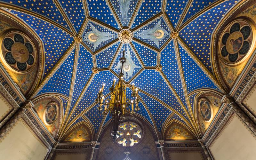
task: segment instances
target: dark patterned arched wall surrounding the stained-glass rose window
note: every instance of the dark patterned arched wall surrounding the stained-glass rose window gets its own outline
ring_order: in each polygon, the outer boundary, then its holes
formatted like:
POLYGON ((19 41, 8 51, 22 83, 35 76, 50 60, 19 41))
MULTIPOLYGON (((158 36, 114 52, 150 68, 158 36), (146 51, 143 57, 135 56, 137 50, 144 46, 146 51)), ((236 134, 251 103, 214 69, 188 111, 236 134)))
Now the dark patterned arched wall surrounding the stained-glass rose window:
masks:
POLYGON ((141 127, 141 140, 134 146, 122 146, 117 142, 112 141, 110 132, 112 132, 112 123, 109 121, 106 123, 100 134, 98 141, 100 142, 97 159, 125 159, 126 154, 129 153, 130 159, 158 159, 158 153, 156 149, 155 141, 158 141, 156 131, 154 127, 147 123, 147 121, 141 116, 125 117, 120 124, 125 122, 133 122, 141 127))

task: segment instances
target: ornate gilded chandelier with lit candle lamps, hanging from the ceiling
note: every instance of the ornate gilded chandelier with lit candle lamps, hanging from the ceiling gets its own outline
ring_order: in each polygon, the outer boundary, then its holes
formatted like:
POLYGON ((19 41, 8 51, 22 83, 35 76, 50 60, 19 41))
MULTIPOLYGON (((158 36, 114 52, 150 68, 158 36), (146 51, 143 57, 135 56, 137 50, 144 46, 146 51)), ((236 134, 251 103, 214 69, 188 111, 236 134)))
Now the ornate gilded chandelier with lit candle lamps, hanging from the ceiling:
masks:
POLYGON ((102 94, 105 84, 102 85, 97 99, 95 100, 99 105, 98 110, 102 115, 109 115, 112 117, 111 122, 113 124, 113 131, 111 133, 113 142, 119 137, 118 125, 120 121, 127 115, 135 115, 139 110, 138 104, 140 103, 138 88, 134 89, 134 83, 132 83, 131 100, 126 98, 126 87, 124 83, 123 67, 126 62, 125 51, 120 58, 121 68, 119 74, 119 80, 116 83, 116 79, 113 80, 112 86, 109 88, 111 92, 110 99, 105 99, 102 94))

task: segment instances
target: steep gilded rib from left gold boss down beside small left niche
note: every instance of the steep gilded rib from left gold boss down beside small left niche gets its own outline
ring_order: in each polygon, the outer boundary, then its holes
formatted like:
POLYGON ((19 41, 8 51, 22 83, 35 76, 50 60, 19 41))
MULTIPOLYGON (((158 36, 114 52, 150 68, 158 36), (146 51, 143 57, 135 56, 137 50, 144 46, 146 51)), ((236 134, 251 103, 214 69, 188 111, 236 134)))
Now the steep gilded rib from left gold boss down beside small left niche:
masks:
MULTIPOLYGON (((67 111, 69 111, 72 97, 73 97, 73 91, 75 87, 75 81, 76 81, 76 71, 77 71, 77 65, 78 65, 78 59, 79 59, 79 50, 80 50, 80 43, 76 44, 76 52, 75 52, 75 58, 74 58, 74 64, 73 64, 73 71, 72 71, 72 78, 71 78, 71 84, 69 89, 69 96, 68 96, 68 105, 67 105, 67 111)), ((68 112, 65 112, 63 120, 65 121, 68 116, 68 112)), ((63 123, 62 123, 63 124, 63 123)))

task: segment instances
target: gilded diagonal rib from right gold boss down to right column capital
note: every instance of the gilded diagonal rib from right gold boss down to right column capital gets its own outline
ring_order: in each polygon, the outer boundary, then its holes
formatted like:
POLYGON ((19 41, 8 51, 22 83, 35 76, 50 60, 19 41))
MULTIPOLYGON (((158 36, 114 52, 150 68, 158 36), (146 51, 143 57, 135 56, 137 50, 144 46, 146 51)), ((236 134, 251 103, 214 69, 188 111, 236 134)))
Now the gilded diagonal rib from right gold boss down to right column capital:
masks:
POLYGON ((187 46, 187 44, 180 38, 180 36, 177 36, 177 40, 179 44, 184 48, 184 50, 188 53, 188 55, 195 61, 195 63, 200 67, 203 72, 210 78, 210 80, 219 88, 219 90, 223 93, 227 93, 227 91, 219 84, 219 82, 215 79, 215 77, 212 75, 212 73, 204 66, 204 64, 196 57, 194 52, 190 50, 190 48, 187 46))

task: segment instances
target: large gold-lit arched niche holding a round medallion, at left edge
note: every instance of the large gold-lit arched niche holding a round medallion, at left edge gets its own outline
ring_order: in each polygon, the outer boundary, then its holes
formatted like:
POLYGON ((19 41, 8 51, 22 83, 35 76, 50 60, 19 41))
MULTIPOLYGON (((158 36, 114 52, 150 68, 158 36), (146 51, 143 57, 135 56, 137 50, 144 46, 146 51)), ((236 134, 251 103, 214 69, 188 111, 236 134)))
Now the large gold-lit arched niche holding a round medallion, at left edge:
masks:
POLYGON ((28 24, 5 10, 0 14, 0 61, 27 98, 42 80, 44 47, 28 24))

